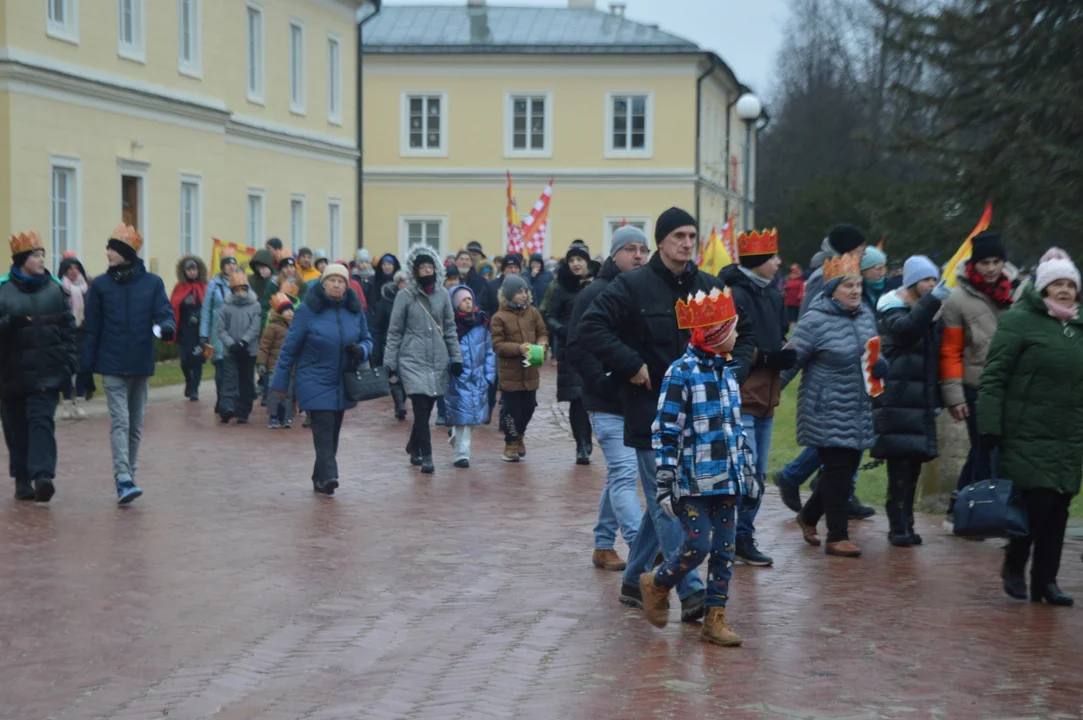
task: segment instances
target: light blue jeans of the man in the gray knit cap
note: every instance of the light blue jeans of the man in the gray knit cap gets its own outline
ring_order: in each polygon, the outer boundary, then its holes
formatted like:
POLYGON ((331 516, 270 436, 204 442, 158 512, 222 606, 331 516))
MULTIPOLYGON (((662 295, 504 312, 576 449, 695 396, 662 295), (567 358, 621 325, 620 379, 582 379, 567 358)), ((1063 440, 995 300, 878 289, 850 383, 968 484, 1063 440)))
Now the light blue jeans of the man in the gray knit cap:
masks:
POLYGON ((624 418, 610 413, 589 415, 598 445, 605 456, 605 487, 598 501, 595 549, 612 550, 617 528, 630 548, 643 516, 636 496, 636 475, 639 474, 636 450, 624 444, 624 418))

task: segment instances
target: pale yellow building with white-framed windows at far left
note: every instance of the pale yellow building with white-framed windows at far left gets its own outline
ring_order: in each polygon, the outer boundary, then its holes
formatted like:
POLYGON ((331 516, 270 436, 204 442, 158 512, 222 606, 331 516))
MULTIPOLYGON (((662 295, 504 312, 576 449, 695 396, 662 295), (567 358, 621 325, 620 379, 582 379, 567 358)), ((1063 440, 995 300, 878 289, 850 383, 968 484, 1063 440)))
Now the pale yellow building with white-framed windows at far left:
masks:
POLYGON ((0 0, 0 225, 171 284, 211 238, 356 247, 363 0, 0 0))

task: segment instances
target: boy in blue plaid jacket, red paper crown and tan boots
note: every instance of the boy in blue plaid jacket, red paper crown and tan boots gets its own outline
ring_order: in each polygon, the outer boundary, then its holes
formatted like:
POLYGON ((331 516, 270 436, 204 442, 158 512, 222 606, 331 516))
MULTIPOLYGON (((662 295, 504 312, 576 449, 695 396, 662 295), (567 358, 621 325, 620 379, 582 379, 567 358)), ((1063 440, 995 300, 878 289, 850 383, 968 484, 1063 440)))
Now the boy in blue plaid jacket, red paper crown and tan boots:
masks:
POLYGON ((665 627, 669 590, 708 552, 703 640, 740 645, 726 621, 736 537, 736 510, 755 496, 755 462, 741 423, 741 390, 727 367, 738 339, 738 313, 729 289, 702 291, 677 303, 677 324, 691 329, 688 349, 666 371, 652 444, 657 458, 658 505, 680 520, 684 541, 639 588, 651 625, 665 627))

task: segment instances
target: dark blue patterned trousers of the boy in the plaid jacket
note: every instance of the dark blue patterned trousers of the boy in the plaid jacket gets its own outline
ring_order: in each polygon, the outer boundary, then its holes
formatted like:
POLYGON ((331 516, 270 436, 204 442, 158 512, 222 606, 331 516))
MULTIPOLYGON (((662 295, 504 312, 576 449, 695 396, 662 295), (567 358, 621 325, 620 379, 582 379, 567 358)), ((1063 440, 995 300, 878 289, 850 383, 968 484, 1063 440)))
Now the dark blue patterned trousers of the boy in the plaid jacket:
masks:
POLYGON ((726 607, 733 575, 733 518, 740 499, 732 495, 707 495, 681 498, 677 516, 684 532, 684 541, 676 554, 666 558, 654 574, 656 585, 671 588, 680 578, 694 572, 707 553, 707 597, 705 607, 726 607))

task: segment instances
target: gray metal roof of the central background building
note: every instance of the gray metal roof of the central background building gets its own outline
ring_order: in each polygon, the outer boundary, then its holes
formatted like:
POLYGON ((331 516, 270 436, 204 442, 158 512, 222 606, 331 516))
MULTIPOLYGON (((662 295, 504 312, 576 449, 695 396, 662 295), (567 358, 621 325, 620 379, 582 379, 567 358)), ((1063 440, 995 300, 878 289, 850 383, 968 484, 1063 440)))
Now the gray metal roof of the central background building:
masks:
POLYGON ((570 8, 384 5, 366 53, 699 53, 694 42, 612 13, 570 8))

